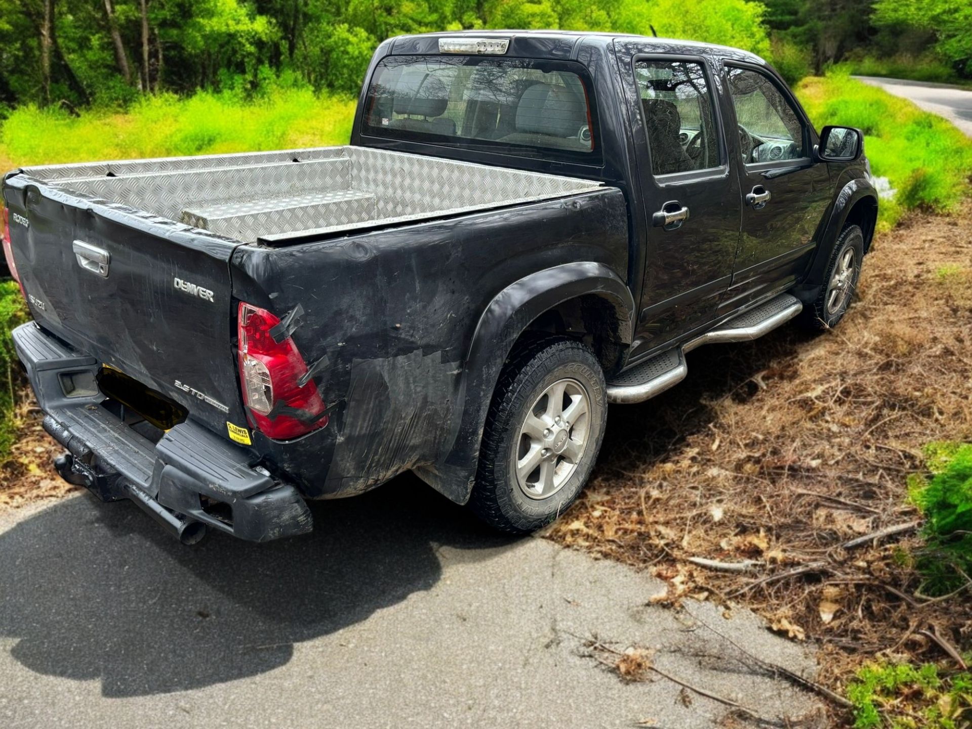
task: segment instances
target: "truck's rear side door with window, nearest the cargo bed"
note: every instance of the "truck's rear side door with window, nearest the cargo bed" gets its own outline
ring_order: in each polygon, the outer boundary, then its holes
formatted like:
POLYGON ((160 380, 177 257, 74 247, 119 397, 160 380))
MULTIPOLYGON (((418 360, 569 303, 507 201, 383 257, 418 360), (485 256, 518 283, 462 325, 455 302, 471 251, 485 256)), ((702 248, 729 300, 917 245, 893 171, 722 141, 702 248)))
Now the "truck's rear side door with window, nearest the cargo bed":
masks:
POLYGON ((712 319, 731 281, 742 203, 707 60, 617 46, 648 226, 637 358, 712 319))

